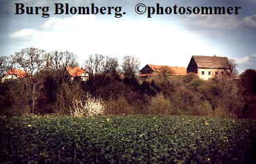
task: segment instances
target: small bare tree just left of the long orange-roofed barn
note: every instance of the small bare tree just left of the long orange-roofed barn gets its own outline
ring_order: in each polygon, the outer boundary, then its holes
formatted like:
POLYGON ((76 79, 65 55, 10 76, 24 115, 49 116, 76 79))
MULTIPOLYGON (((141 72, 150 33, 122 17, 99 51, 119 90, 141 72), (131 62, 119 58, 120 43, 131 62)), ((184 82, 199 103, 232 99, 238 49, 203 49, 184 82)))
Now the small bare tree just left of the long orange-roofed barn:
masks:
POLYGON ((131 78, 139 72, 141 62, 134 56, 124 56, 122 70, 125 77, 131 78))

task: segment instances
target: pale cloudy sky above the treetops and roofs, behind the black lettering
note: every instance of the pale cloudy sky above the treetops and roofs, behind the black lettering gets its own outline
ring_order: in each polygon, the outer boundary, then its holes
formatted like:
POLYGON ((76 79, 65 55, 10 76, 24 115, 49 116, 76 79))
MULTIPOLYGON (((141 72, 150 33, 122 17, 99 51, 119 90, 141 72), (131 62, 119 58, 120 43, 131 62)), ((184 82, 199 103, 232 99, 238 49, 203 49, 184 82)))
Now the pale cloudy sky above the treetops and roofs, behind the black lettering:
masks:
POLYGON ((102 54, 117 57, 120 62, 124 56, 135 56, 141 61, 140 68, 146 64, 187 68, 191 56, 215 55, 236 60, 239 73, 256 69, 255 0, 0 0, 0 7, 0 56, 37 47, 46 52, 73 52, 79 64, 90 55, 102 54), (24 14, 16 14, 20 5, 15 3, 24 5, 24 14), (65 3, 69 9, 91 9, 92 3, 114 9, 111 14, 55 14, 54 3, 62 3, 63 9, 65 3), (137 14, 135 6, 139 3, 151 8, 137 14), (163 9, 171 7, 172 14, 151 14, 147 18, 149 9, 157 8, 156 3, 163 9), (241 8, 238 14, 174 14, 175 5, 241 8), (33 14, 26 14, 26 7, 31 7, 33 14), (49 7, 45 12, 48 18, 43 18, 42 9, 35 14, 36 7, 49 7), (115 18, 118 7, 122 10, 117 15, 122 17, 115 18))

